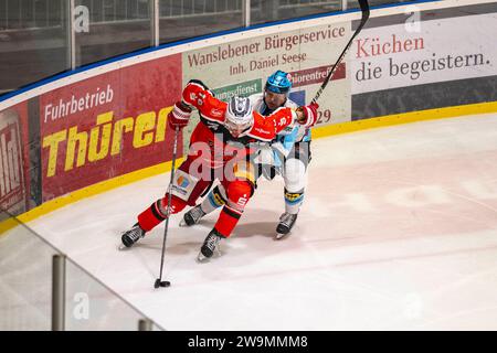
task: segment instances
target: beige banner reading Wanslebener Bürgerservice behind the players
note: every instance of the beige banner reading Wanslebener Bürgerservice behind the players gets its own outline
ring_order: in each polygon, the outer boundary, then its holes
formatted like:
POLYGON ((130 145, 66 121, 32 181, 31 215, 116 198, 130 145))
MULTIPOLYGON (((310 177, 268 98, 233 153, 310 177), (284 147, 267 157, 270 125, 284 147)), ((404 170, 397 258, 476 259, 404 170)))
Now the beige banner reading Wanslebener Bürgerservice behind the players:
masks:
MULTIPOLYGON (((293 77, 290 98, 299 105, 309 104, 350 35, 347 22, 184 52, 183 85, 200 79, 225 100, 232 95, 261 93, 267 76, 282 69, 293 77)), ((340 68, 319 98, 318 125, 350 120, 350 81, 345 63, 340 68)))

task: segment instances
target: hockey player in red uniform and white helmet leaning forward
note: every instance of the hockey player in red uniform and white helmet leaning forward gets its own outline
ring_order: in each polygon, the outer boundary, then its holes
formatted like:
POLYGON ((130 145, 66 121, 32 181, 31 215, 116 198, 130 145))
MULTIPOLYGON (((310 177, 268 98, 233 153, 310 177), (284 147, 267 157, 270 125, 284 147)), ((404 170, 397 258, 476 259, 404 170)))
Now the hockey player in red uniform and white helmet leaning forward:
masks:
POLYGON ((253 110, 248 98, 232 97, 224 103, 215 98, 202 82, 192 79, 168 115, 169 126, 186 127, 194 108, 199 110, 200 122, 192 132, 187 159, 177 170, 171 188, 171 208, 168 212, 169 195, 166 193, 141 212, 133 228, 123 234, 124 246, 133 246, 169 214, 181 212, 187 205, 194 206, 199 196, 218 179, 228 200, 198 259, 203 261, 212 257, 219 242, 231 235, 254 192, 253 143, 272 141, 295 121, 314 125, 318 106, 284 107, 264 117, 253 110))

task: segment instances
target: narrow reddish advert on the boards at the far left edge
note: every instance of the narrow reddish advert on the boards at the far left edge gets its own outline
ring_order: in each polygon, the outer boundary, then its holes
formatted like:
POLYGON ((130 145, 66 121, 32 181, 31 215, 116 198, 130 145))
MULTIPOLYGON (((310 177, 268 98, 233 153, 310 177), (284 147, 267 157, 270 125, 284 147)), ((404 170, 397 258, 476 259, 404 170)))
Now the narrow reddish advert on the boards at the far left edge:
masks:
POLYGON ((0 111, 0 206, 27 211, 29 195, 27 103, 0 111))

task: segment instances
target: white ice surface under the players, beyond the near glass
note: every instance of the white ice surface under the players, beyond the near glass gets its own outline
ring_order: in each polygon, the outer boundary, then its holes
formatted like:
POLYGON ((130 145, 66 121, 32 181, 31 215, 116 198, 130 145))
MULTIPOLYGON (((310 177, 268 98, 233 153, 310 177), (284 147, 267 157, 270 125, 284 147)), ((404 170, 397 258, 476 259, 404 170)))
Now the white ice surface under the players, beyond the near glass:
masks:
POLYGON ((273 239, 283 181, 261 182, 223 256, 194 261, 218 213, 171 218, 129 252, 120 232, 161 196, 162 174, 30 224, 168 330, 497 329, 497 116, 318 139, 305 204, 273 239))

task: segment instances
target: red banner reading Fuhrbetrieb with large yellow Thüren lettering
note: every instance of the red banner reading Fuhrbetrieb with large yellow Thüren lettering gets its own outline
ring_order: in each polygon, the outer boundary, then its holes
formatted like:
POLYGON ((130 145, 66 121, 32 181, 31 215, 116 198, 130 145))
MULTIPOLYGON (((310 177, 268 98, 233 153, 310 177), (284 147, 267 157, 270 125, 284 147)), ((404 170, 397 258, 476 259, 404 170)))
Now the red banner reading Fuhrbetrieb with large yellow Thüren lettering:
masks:
POLYGON ((43 202, 169 161, 166 119, 181 78, 181 55, 172 55, 42 95, 43 202))

